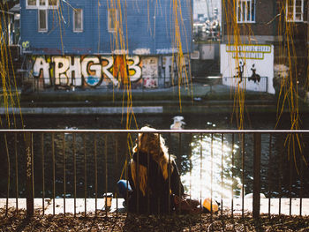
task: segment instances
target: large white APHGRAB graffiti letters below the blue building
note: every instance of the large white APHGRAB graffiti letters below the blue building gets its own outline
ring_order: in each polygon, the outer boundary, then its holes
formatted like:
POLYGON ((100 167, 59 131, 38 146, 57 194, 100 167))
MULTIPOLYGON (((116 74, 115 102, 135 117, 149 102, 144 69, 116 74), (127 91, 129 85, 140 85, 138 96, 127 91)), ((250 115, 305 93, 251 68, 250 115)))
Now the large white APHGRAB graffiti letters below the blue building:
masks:
POLYGON ((114 86, 124 81, 124 72, 131 81, 142 75, 139 56, 44 56, 34 57, 34 77, 43 76, 44 85, 50 86, 99 86, 102 79, 109 79, 114 86), (51 63, 49 64, 51 60, 51 63), (126 67, 124 66, 126 64, 126 67), (42 73, 41 73, 42 71, 42 73))

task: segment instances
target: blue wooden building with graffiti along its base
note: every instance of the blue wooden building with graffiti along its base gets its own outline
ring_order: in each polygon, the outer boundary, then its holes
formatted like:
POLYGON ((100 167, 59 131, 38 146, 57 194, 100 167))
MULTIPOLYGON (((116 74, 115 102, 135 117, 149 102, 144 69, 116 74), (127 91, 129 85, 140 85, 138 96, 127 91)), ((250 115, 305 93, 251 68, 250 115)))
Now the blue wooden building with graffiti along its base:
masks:
POLYGON ((20 7, 28 78, 41 90, 119 86, 124 71, 133 87, 170 86, 177 41, 186 62, 192 49, 191 0, 178 0, 177 10, 168 0, 22 0, 20 7))

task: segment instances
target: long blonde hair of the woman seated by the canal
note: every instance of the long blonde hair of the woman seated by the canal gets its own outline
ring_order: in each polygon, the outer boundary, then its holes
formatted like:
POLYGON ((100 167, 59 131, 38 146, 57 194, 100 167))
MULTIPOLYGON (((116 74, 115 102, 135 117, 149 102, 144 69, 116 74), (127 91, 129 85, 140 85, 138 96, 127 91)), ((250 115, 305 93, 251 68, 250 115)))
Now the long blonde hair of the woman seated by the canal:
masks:
MULTIPOLYGON (((156 131, 154 128, 144 126, 141 131, 156 131)), ((174 156, 168 152, 165 140, 158 133, 146 132, 139 133, 138 143, 133 147, 133 153, 149 153, 152 159, 160 166, 164 180, 169 177, 169 162, 174 161, 174 156)), ((170 173, 173 172, 170 165, 170 173)), ((131 161, 132 180, 136 186, 136 162, 131 161)), ((147 167, 139 164, 139 190, 146 195, 147 192, 147 167)))

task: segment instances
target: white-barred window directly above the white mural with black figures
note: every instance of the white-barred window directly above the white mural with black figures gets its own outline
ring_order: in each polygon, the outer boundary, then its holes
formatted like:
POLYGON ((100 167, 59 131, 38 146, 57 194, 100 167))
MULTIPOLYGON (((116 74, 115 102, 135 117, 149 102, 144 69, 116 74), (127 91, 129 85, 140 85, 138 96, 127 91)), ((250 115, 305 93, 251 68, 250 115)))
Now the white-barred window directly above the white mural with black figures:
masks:
POLYGON ((255 22, 255 0, 237 0, 237 22, 255 22))

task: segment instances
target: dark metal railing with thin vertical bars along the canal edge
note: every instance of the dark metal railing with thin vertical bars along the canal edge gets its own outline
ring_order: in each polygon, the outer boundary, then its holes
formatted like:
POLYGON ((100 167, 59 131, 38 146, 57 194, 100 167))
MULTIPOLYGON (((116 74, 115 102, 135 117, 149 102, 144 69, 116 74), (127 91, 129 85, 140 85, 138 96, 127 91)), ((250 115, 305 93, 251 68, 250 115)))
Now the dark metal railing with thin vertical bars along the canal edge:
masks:
MULTIPOLYGON (((19 199, 26 198, 29 216, 47 213, 47 204, 52 205, 49 213, 65 216, 70 212, 69 203, 74 216, 80 212, 87 216, 91 207, 97 216, 107 203, 104 196, 108 192, 115 197, 115 212, 120 212, 117 180, 128 179, 132 141, 140 132, 153 131, 1 130, 0 198, 6 198, 6 213, 10 201, 14 201, 11 197, 15 197, 16 213, 19 199), (39 211, 34 212, 36 198, 41 204, 36 202, 39 211), (62 212, 58 210, 60 201, 62 212)), ((304 214, 303 201, 309 198, 309 180, 305 179, 308 168, 305 148, 298 153, 298 145, 308 143, 309 131, 156 132, 166 138, 170 153, 177 156, 185 189, 190 195, 198 193, 200 205, 201 199, 208 197, 220 202, 219 213, 230 212, 231 216, 241 213, 244 217, 251 210, 254 218, 259 218, 260 213, 270 216, 283 211, 304 214), (245 191, 252 192, 252 198, 245 191), (283 209, 283 201, 288 209, 283 209)), ((170 186, 170 171, 168 180, 170 186)))

